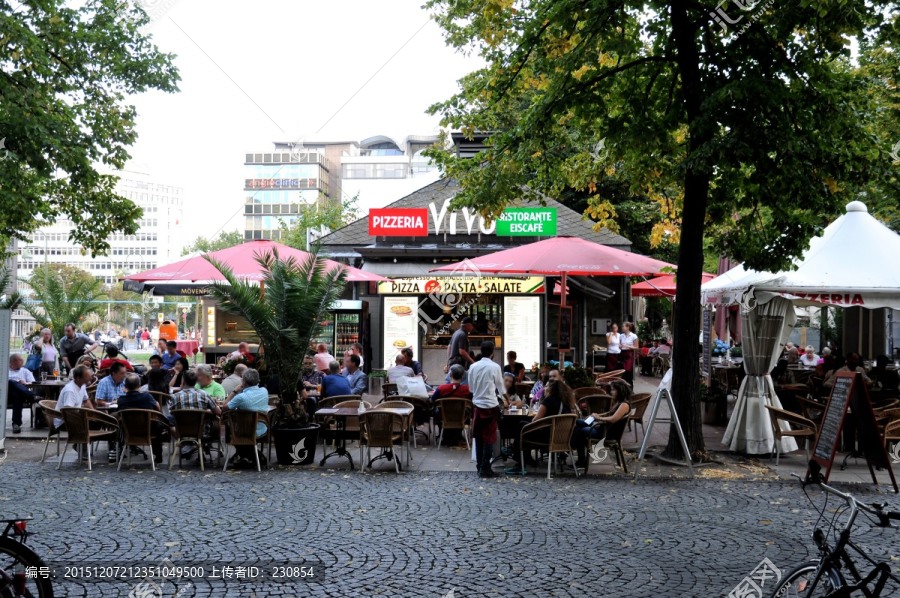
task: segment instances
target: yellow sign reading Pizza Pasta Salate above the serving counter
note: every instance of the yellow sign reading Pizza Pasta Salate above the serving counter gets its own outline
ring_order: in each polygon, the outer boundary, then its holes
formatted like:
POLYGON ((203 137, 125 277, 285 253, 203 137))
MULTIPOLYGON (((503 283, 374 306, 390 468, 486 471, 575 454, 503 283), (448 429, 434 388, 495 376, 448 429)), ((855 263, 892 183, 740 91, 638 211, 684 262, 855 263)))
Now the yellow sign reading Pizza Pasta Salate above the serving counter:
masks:
POLYGON ((416 276, 378 283, 379 295, 521 295, 543 292, 543 276, 416 276))

